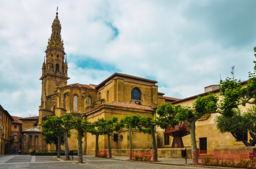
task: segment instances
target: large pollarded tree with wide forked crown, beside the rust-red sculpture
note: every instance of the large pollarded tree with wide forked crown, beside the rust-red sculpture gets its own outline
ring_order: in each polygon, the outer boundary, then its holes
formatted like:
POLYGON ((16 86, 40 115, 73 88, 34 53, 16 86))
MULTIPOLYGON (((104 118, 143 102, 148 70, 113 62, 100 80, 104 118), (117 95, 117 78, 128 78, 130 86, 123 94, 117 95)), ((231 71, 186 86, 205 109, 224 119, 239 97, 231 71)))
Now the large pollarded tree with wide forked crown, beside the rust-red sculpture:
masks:
POLYGON ((166 128, 166 125, 175 126, 182 121, 188 121, 190 127, 190 140, 193 156, 193 164, 198 165, 197 144, 196 144, 196 121, 205 114, 216 113, 219 97, 210 93, 207 96, 198 97, 193 103, 193 107, 175 106, 172 104, 162 104, 157 108, 159 126, 166 128))

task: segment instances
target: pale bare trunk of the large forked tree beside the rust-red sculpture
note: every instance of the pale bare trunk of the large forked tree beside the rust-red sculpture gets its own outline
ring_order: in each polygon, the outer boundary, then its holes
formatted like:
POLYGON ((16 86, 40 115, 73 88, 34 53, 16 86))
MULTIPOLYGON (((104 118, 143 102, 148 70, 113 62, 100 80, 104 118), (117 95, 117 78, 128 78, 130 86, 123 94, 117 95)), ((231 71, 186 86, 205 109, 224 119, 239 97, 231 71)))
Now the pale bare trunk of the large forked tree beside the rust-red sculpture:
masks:
POLYGON ((198 165, 198 150, 197 150, 197 142, 196 142, 196 121, 197 119, 194 118, 189 122, 193 165, 198 165))

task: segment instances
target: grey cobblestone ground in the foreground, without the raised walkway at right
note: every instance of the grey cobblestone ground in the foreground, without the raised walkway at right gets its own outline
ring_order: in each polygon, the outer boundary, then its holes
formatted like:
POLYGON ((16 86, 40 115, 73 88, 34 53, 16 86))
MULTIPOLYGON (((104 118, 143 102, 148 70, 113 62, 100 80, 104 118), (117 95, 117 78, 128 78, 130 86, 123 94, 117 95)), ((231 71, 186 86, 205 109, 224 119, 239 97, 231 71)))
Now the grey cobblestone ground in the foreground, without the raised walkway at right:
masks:
MULTIPOLYGON (((131 162, 131 161, 119 161, 119 160, 110 160, 102 159, 95 157, 86 157, 83 159, 83 164, 77 164, 77 158, 74 158, 74 161, 63 161, 63 158, 57 159, 53 156, 14 156, 10 157, 11 159, 6 162, 0 163, 0 168, 5 169, 14 169, 14 168, 61 168, 61 169, 71 169, 71 168, 116 168, 116 169, 125 169, 125 168, 197 168, 193 166, 176 166, 176 165, 162 165, 162 164, 153 164, 153 163, 144 163, 144 162, 131 162)), ((203 169, 203 167, 200 167, 203 169)))

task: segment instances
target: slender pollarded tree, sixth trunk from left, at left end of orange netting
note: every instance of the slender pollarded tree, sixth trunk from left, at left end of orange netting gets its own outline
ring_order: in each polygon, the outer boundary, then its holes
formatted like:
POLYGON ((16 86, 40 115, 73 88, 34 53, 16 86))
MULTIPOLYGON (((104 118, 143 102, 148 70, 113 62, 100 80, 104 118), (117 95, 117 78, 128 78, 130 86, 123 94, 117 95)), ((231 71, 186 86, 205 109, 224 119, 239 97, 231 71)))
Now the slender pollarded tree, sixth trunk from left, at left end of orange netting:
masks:
POLYGON ((120 120, 125 128, 129 129, 129 144, 130 144, 130 152, 129 152, 129 160, 132 160, 132 128, 137 128, 141 115, 127 115, 124 116, 120 120))

